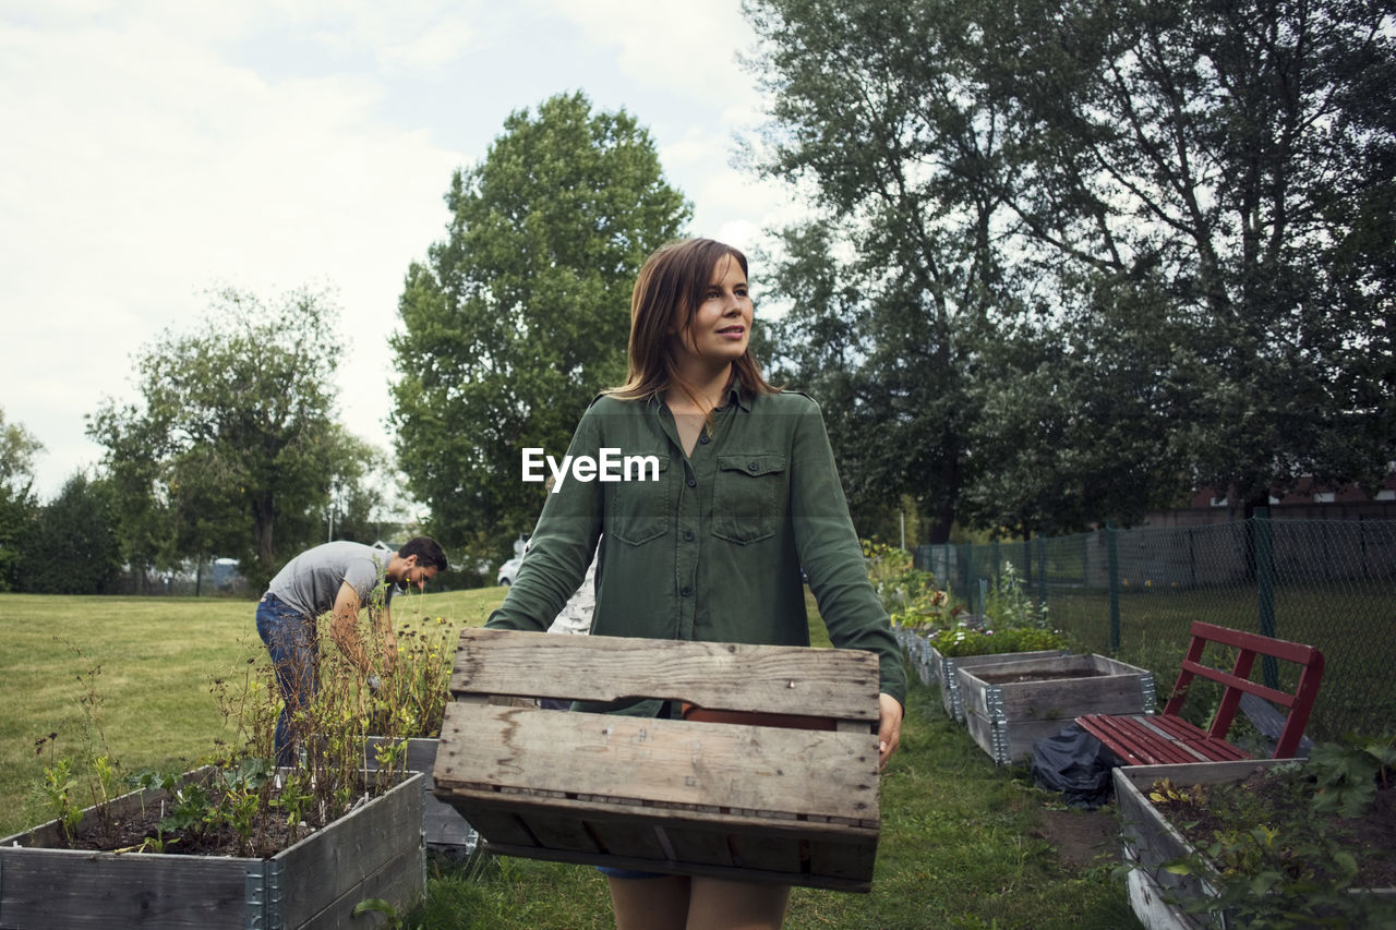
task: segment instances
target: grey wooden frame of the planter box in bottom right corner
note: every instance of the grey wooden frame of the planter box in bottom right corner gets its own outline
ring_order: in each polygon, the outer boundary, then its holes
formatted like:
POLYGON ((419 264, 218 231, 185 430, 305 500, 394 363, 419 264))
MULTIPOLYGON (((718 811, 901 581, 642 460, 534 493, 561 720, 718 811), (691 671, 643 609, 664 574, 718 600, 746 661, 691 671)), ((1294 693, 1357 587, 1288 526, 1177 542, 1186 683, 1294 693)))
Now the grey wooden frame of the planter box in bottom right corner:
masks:
MULTIPOLYGON (((1194 852, 1173 824, 1149 800, 1149 788, 1167 778, 1178 786, 1240 782, 1254 772, 1291 764, 1287 758, 1242 760, 1238 762, 1196 762, 1191 765, 1127 765, 1111 774, 1120 811, 1124 857, 1129 870, 1129 906, 1149 930, 1203 930, 1210 927, 1206 915, 1191 915, 1175 905, 1189 898, 1210 896, 1213 890, 1202 876, 1177 876, 1163 863, 1194 852)), ((1396 888, 1354 894, 1396 898, 1396 888)))

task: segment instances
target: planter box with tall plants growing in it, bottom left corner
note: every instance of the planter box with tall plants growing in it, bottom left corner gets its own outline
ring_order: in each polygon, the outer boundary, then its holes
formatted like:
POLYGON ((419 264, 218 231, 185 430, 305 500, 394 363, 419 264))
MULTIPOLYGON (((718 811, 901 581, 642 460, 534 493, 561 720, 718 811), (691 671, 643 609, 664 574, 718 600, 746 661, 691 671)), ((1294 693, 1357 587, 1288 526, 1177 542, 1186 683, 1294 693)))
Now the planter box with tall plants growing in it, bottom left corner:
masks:
POLYGON ((138 790, 120 797, 107 790, 119 767, 98 765, 89 778, 102 802, 80 815, 75 769, 46 737, 43 793, 63 815, 0 841, 0 926, 335 926, 366 898, 420 896, 422 776, 401 762, 364 771, 362 736, 350 737, 362 733, 363 688, 332 655, 321 672, 307 714, 338 729, 320 730, 292 769, 267 761, 276 690, 257 659, 240 688, 214 687, 236 744, 218 743, 193 772, 137 772, 138 790))

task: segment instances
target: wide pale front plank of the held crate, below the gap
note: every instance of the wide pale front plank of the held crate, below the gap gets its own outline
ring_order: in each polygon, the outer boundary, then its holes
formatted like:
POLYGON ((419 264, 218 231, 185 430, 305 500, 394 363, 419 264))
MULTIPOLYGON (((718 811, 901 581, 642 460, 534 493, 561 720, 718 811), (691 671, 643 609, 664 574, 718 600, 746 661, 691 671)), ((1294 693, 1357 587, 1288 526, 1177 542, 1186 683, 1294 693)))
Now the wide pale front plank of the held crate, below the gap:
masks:
POLYGON ((443 735, 438 796, 441 788, 503 788, 769 815, 877 815, 871 733, 451 704, 443 735))

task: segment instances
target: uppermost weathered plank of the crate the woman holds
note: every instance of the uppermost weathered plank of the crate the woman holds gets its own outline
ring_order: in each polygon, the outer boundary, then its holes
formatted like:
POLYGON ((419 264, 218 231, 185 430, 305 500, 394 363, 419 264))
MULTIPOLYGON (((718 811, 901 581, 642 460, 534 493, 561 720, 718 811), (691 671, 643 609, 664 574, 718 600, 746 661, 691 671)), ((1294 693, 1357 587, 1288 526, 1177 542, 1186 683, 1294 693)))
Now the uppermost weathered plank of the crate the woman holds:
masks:
POLYGON ((877 721, 878 659, 810 649, 628 637, 461 631, 451 691, 556 700, 648 697, 718 711, 877 721))

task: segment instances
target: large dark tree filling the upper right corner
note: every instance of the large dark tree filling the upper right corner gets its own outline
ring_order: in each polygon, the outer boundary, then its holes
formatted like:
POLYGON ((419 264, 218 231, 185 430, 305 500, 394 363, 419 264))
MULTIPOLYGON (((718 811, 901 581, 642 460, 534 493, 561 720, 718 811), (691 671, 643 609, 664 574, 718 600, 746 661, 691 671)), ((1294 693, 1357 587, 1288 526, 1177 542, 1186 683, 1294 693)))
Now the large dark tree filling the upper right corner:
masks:
POLYGON ((1092 288, 1168 295, 1175 339, 1152 367, 1184 480, 1249 511, 1307 475, 1383 472, 1396 385, 1374 376, 1390 371, 1390 240, 1381 256, 1362 243, 1390 191, 1374 170, 1390 163, 1389 95, 1367 99, 1392 74, 1389 4, 1002 8, 1025 15, 986 38, 983 66, 1016 102, 1007 201, 1025 249, 1092 288))

